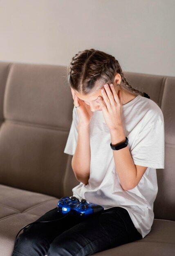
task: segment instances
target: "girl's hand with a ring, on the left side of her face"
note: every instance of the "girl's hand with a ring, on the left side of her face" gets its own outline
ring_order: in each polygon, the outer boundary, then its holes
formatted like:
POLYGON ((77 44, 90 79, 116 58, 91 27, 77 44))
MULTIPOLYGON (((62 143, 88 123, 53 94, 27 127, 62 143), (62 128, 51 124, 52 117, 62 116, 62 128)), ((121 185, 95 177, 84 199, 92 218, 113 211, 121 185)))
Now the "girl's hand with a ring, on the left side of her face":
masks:
POLYGON ((80 107, 76 109, 79 115, 79 124, 89 125, 90 120, 93 116, 93 112, 90 110, 90 106, 88 106, 84 101, 79 99, 72 88, 71 92, 72 98, 74 100, 74 106, 77 107, 80 105, 80 107))

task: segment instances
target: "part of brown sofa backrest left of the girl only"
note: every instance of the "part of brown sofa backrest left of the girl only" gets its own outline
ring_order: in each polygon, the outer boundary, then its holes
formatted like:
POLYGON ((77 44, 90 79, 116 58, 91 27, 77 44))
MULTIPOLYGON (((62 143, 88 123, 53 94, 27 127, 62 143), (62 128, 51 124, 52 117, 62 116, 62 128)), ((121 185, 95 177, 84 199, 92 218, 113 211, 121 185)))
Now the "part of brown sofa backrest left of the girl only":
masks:
POLYGON ((71 95, 65 67, 0 63, 0 183, 63 196, 71 95))

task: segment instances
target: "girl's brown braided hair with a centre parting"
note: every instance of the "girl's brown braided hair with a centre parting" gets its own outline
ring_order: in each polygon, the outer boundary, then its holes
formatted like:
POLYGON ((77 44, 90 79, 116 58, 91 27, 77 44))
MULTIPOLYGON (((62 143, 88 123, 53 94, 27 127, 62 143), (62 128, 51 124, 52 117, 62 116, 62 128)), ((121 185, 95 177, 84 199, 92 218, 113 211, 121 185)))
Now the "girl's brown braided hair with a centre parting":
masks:
POLYGON ((117 73, 122 80, 119 86, 150 99, 145 92, 132 88, 114 56, 96 49, 86 49, 75 54, 67 68, 67 79, 74 90, 87 95, 99 91, 105 83, 114 83, 117 73))

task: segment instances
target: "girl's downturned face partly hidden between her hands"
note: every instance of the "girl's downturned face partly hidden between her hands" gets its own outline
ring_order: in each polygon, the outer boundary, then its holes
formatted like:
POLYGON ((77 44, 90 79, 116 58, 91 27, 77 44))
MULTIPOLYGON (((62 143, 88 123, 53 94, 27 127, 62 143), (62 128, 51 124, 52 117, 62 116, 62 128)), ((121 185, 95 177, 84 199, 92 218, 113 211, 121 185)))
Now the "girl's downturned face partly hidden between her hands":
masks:
POLYGON ((101 96, 101 99, 103 100, 101 90, 99 90, 98 92, 91 94, 91 95, 80 94, 79 92, 77 92, 75 90, 74 90, 74 93, 79 98, 79 100, 84 101, 85 104, 90 106, 90 110, 92 112, 94 112, 96 110, 101 110, 101 106, 99 104, 99 99, 98 99, 98 96, 101 96))

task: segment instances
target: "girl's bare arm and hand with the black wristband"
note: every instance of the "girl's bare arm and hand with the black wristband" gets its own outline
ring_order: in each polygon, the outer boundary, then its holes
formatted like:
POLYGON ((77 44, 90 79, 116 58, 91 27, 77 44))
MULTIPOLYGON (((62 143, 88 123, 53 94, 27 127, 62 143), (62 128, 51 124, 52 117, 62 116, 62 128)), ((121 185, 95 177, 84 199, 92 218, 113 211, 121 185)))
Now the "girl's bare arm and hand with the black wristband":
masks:
MULTIPOLYGON (((118 93, 111 83, 104 85, 101 90, 104 101, 99 98, 100 106, 103 110, 105 122, 110 129, 112 146, 125 141, 125 133, 122 126, 121 114, 123 110, 123 92, 118 93)), ((119 176, 121 186, 124 190, 135 188, 141 177, 144 175, 147 167, 135 165, 130 154, 128 146, 120 150, 112 150, 116 171, 119 176)))

